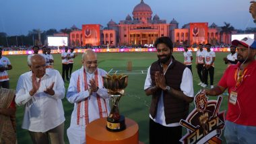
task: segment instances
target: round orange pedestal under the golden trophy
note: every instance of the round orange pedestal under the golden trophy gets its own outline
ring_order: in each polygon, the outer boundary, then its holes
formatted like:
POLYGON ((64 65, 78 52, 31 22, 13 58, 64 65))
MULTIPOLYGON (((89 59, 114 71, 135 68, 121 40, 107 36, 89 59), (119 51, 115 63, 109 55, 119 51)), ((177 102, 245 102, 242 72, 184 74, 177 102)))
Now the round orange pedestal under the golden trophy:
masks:
POLYGON ((86 126, 87 144, 138 144, 138 124, 125 118, 126 129, 121 132, 110 132, 106 130, 106 118, 94 120, 86 126))

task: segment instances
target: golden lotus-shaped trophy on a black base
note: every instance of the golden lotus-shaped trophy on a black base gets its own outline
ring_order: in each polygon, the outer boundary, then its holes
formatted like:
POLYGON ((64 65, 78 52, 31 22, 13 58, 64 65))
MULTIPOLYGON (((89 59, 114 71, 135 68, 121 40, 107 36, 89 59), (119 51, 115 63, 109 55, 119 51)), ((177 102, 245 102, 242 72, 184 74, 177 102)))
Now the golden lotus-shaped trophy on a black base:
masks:
POLYGON ((125 93, 128 75, 106 75, 103 77, 104 87, 108 89, 110 96, 110 114, 106 120, 108 131, 118 132, 125 130, 125 116, 119 114, 119 100, 125 93))

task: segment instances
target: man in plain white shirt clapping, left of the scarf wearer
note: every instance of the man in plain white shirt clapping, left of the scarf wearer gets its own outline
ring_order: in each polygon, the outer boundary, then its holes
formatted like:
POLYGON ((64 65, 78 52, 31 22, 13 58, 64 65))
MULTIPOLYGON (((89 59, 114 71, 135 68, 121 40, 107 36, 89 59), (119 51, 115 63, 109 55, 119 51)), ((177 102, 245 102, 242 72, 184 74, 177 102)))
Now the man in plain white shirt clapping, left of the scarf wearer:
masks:
POLYGON ((65 87, 59 71, 46 69, 44 57, 31 57, 32 71, 20 75, 15 103, 25 105, 22 129, 33 143, 64 143, 64 110, 61 99, 65 87))

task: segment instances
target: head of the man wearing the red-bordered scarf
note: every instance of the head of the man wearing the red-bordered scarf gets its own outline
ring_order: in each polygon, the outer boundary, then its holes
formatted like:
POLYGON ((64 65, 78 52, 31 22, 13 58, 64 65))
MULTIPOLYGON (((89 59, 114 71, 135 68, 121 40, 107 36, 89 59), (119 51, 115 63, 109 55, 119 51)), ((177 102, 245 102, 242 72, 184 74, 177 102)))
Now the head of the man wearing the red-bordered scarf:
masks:
POLYGON ((94 73, 98 67, 96 52, 93 50, 86 50, 82 55, 82 63, 88 73, 94 73))

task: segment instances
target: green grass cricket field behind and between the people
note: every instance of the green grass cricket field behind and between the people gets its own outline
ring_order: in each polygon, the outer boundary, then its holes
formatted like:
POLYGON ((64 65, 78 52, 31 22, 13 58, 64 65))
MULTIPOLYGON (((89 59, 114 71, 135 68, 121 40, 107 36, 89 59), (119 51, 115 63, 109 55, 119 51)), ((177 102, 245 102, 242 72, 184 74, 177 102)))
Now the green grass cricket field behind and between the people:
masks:
MULTIPOLYGON (((183 62, 183 52, 174 52, 175 59, 183 62)), ((226 65, 222 61, 223 57, 226 57, 228 53, 216 52, 216 62, 215 62, 215 73, 214 73, 214 85, 218 83, 226 65)), ((55 59, 55 69, 59 70, 61 73, 61 55, 53 55, 55 59)), ((8 71, 10 77, 10 87, 15 89, 18 82, 18 78, 22 73, 29 71, 27 66, 27 55, 12 55, 6 56, 11 61, 13 69, 8 71)), ((199 83, 199 77, 197 75, 197 70, 195 69, 195 52, 193 52, 193 84, 195 94, 199 91, 201 87, 197 85, 199 83)), ((135 120, 139 124, 139 141, 143 143, 148 143, 148 121, 149 121, 149 106, 151 101, 151 96, 146 96, 143 87, 146 79, 146 73, 148 67, 152 62, 156 61, 155 52, 124 52, 124 53, 98 53, 98 67, 108 71, 110 74, 124 73, 129 75, 128 86, 125 89, 125 96, 121 98, 120 102, 120 112, 124 116, 135 120), (132 71, 127 71, 127 63, 131 61, 132 71)), ((82 67, 82 54, 79 54, 75 58, 75 63, 73 65, 73 71, 82 67)), ((208 78, 209 79, 209 78, 208 78)), ((69 83, 65 83, 67 89, 69 83)), ((216 100, 215 97, 210 97, 211 100, 216 100)), ((63 107, 65 110, 65 143, 69 143, 67 139, 66 130, 70 124, 70 116, 73 110, 73 104, 70 104, 67 99, 63 99, 63 107)), ((195 108, 194 104, 191 103, 191 110, 195 108)), ((220 110, 226 110, 227 108, 227 97, 223 97, 222 105, 220 110)), ((18 143, 32 143, 28 131, 21 129, 22 120, 24 115, 24 106, 17 107, 16 120, 17 120, 17 137, 18 143)), ((185 131, 184 131, 185 132, 185 131)), ((224 140, 224 138, 223 138, 224 140)), ((225 141, 224 141, 225 142, 225 141)))

